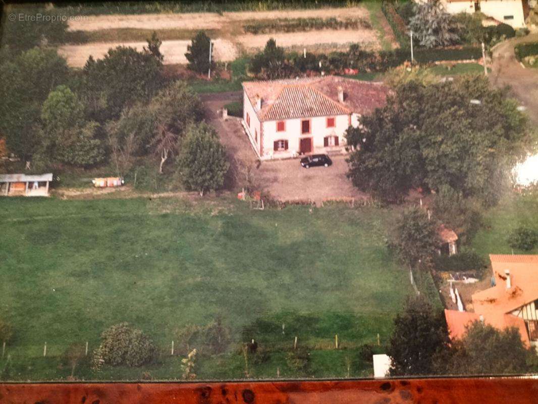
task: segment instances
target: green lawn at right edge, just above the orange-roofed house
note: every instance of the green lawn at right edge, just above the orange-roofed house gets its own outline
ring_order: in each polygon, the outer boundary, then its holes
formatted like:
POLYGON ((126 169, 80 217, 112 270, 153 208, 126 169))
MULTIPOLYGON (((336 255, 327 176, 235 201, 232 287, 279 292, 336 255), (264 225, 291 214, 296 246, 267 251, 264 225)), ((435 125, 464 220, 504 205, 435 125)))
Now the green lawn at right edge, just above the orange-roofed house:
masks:
MULTIPOLYGON (((538 231, 538 195, 511 195, 484 214, 485 226, 477 233, 471 246, 477 253, 512 254, 508 235, 514 228, 525 225, 538 231)), ((530 251, 513 250, 514 254, 538 254, 538 247, 530 251)))

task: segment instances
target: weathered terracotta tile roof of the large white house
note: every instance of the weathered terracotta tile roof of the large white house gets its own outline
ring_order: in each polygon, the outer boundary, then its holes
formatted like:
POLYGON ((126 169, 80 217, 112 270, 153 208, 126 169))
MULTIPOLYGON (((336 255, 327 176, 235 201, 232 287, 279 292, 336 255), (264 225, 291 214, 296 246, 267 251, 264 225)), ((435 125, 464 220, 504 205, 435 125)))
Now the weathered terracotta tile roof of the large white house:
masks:
POLYGON ((320 76, 273 81, 248 81, 243 88, 260 121, 279 119, 370 114, 383 107, 390 89, 378 82, 366 82, 337 76, 320 76), (344 102, 338 99, 342 88, 344 102))

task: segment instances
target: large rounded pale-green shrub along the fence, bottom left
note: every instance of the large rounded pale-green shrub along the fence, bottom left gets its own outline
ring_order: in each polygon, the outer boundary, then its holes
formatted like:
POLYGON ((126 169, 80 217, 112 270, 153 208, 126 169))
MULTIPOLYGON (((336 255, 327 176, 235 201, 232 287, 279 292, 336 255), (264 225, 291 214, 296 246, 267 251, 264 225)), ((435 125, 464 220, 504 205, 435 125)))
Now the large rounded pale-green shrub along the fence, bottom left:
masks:
MULTIPOLYGON (((157 346, 138 329, 128 323, 112 325, 101 335, 101 345, 95 350, 94 358, 112 366, 140 366, 157 356, 157 346)), ((95 361, 97 361, 95 360, 95 361)))

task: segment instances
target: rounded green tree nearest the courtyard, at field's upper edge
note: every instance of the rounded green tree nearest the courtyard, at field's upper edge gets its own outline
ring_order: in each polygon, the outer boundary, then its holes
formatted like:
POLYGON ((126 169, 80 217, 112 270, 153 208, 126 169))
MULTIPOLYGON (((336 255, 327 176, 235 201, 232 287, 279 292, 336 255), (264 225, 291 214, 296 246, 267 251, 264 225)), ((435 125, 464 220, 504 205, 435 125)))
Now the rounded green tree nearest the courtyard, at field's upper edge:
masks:
POLYGON ((203 196, 219 189, 230 164, 215 130, 206 123, 191 124, 181 141, 178 172, 183 184, 203 196))

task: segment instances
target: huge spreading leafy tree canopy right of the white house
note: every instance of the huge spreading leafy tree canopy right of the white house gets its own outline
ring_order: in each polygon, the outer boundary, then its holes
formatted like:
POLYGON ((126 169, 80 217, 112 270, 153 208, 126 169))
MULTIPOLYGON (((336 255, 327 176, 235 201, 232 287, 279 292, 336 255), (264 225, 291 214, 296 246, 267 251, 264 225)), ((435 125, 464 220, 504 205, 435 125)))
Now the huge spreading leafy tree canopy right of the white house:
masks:
POLYGON ((413 187, 448 185, 494 204, 529 145, 527 119, 517 106, 507 90, 477 76, 404 82, 384 108, 363 117, 348 176, 385 201, 401 201, 413 187))

